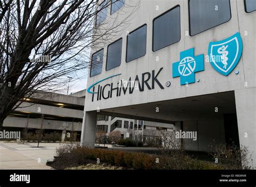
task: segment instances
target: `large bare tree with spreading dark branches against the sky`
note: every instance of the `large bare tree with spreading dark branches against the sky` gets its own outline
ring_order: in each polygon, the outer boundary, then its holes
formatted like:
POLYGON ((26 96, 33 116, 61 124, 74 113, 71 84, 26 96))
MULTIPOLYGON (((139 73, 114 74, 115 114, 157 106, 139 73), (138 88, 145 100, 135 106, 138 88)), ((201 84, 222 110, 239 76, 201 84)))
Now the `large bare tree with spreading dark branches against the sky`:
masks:
POLYGON ((91 47, 104 46, 124 30, 135 9, 122 20, 109 17, 95 26, 97 15, 112 3, 96 8, 100 2, 0 0, 0 128, 24 97, 59 91, 66 76, 90 67, 91 47))

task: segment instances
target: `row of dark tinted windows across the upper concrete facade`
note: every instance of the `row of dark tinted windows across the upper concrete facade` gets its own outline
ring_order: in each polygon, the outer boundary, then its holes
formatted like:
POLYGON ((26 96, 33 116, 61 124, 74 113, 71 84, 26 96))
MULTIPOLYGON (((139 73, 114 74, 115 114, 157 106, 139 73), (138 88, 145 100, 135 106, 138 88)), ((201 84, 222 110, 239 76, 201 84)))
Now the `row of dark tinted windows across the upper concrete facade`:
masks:
MULTIPOLYGON (((106 0, 105 0, 106 1, 106 0)), ((190 35, 196 35, 231 19, 230 0, 190 0, 190 35)), ((245 0, 246 12, 256 10, 255 0, 245 0)), ((111 10, 112 11, 112 10, 111 10)), ((131 62, 146 54, 147 25, 142 25, 127 35, 126 62, 131 62)), ((175 44, 180 40, 180 6, 164 12, 153 19, 152 51, 175 44)), ((120 66, 123 38, 107 46, 106 71, 120 66)), ((104 49, 92 55, 90 76, 102 72, 104 49)))

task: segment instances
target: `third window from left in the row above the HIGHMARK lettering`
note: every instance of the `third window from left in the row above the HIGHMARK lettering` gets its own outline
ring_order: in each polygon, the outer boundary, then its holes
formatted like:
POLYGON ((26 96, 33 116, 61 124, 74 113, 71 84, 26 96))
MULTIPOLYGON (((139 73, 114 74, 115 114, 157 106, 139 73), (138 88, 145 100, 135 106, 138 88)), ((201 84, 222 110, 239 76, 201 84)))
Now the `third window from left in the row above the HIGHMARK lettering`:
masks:
POLYGON ((126 62, 146 54, 147 25, 143 25, 127 35, 126 62))

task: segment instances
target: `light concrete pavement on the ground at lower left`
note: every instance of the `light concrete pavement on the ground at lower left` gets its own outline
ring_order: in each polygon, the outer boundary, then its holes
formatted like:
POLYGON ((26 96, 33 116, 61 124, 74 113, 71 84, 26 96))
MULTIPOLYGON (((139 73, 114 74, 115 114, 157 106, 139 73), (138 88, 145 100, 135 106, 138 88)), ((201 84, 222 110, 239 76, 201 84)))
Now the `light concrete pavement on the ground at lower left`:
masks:
POLYGON ((53 159, 60 143, 17 143, 0 141, 0 169, 52 169, 46 166, 53 159))

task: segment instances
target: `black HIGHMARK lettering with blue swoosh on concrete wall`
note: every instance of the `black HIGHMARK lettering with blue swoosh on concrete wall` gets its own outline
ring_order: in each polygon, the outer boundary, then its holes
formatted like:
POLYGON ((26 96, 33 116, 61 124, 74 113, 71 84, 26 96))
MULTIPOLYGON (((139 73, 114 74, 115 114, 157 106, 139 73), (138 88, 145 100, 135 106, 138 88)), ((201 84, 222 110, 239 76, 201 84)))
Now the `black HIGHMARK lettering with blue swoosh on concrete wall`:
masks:
POLYGON ((147 89, 151 90, 154 89, 155 83, 158 84, 158 86, 161 89, 164 89, 163 85, 159 82, 157 79, 157 76, 160 74, 161 70, 163 68, 160 68, 155 73, 154 70, 152 70, 152 73, 146 72, 142 74, 142 78, 140 79, 138 75, 136 75, 134 81, 132 78, 129 78, 129 81, 127 83, 124 83, 123 80, 120 80, 117 85, 113 85, 113 83, 100 85, 100 82, 103 82, 109 78, 116 77, 121 74, 112 75, 110 77, 104 78, 103 80, 100 80, 92 85, 87 89, 88 93, 92 93, 92 102, 95 100, 95 95, 97 97, 97 100, 108 99, 112 98, 112 96, 121 96, 122 94, 125 95, 126 92, 129 92, 129 94, 133 93, 134 88, 136 87, 136 84, 138 85, 139 91, 144 91, 144 88, 147 87, 147 89), (151 81, 150 81, 151 80, 151 81), (151 82, 151 83, 150 83, 151 82), (98 85, 97 91, 95 92, 95 86, 98 85), (92 91, 91 91, 92 89, 92 91), (114 92, 114 93, 113 93, 114 92))

